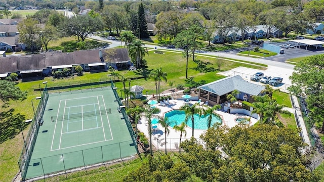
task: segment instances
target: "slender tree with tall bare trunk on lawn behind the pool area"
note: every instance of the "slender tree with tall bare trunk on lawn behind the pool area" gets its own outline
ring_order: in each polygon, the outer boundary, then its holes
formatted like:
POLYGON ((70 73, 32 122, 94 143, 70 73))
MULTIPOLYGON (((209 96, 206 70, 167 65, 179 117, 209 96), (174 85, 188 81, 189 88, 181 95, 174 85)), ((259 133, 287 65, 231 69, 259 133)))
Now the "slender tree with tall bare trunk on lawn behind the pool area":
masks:
POLYGON ((177 35, 174 39, 176 48, 183 49, 182 57, 187 59, 186 62, 186 79, 188 79, 188 58, 190 57, 190 50, 194 45, 194 32, 190 30, 184 30, 177 35))

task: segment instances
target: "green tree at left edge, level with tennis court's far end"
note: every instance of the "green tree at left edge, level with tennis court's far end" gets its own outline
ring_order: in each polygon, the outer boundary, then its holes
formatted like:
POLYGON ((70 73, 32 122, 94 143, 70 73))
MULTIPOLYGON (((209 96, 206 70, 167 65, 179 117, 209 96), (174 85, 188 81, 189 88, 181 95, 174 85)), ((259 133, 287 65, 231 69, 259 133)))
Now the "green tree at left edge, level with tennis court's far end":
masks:
POLYGON ((27 93, 15 86, 16 83, 7 80, 0 80, 0 100, 7 104, 9 100, 23 101, 26 99, 27 93))

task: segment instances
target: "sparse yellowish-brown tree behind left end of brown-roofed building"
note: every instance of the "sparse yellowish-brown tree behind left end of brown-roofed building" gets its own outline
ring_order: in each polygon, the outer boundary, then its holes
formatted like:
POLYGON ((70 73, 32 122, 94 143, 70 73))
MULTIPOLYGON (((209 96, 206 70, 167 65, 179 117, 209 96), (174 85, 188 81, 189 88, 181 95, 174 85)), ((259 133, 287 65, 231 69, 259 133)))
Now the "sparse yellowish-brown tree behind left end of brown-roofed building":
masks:
POLYGON ((18 23, 17 28, 20 32, 20 40, 26 44, 26 47, 33 52, 38 49, 42 42, 39 39, 39 31, 41 30, 37 21, 27 18, 18 23))

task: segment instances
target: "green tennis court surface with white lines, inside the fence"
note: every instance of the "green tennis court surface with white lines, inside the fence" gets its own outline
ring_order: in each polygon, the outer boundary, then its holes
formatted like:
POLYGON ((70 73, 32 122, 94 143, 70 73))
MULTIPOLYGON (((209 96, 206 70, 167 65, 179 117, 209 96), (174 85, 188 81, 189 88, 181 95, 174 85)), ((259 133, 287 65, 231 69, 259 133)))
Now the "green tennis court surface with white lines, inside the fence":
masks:
POLYGON ((26 179, 136 154, 111 87, 50 95, 26 179))

